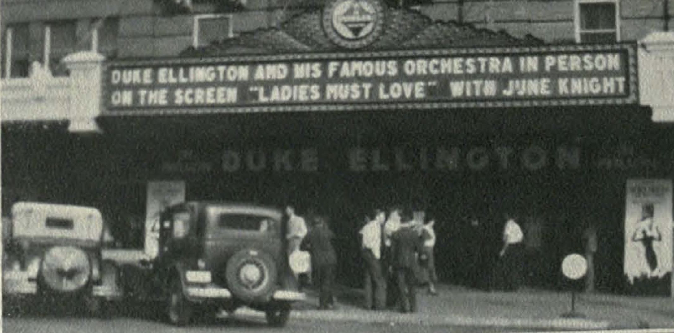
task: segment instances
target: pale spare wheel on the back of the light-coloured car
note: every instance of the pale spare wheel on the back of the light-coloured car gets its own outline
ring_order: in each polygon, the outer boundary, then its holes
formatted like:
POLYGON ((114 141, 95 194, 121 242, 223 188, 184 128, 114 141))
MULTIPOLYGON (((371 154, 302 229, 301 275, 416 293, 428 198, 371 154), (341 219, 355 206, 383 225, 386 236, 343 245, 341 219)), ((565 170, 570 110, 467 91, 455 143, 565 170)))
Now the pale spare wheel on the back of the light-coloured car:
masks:
POLYGON ((74 246, 55 246, 44 254, 40 271, 42 281, 49 288, 69 293, 86 285, 91 264, 84 250, 74 246))

